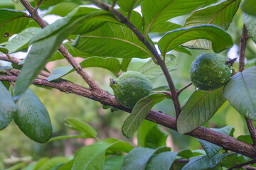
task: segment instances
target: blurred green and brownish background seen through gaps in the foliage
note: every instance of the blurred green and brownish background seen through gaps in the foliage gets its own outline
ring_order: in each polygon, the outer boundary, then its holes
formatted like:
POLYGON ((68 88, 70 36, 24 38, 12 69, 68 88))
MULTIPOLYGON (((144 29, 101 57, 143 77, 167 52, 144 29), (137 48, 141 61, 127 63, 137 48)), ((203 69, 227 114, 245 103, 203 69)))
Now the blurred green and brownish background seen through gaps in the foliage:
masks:
MULTIPOLYGON (((178 18, 179 23, 183 23, 185 17, 178 18)), ((242 16, 241 12, 234 18, 234 22, 231 24, 228 32, 233 36, 233 40, 236 44, 233 50, 222 52, 223 55, 229 55, 229 57, 235 57, 238 52, 239 37, 242 30, 242 16)), ((157 35, 154 35, 157 36, 157 35)), ((180 89, 190 82, 189 69, 191 63, 195 60, 195 57, 200 55, 203 50, 191 50, 192 57, 181 52, 173 52, 176 56, 177 70, 171 72, 171 76, 174 79, 176 88, 180 89)), ((132 60, 129 64, 128 70, 137 70, 146 62, 146 60, 132 60)), ((255 44, 252 40, 249 40, 247 46, 247 62, 246 67, 255 65, 255 44)), ((52 62, 50 68, 66 66, 67 62, 58 61, 52 62)), ((238 63, 234 64, 235 70, 238 69, 238 63)), ((112 89, 109 86, 110 78, 114 78, 114 74, 100 68, 85 69, 95 81, 100 84, 102 89, 109 91, 112 94, 112 89)), ((82 86, 86 84, 75 73, 68 74, 63 77, 82 86)), ((158 77, 152 81, 153 87, 167 85, 164 76, 158 77)), ((82 96, 75 96, 73 94, 65 94, 55 89, 45 89, 38 86, 31 85, 31 90, 41 99, 43 104, 48 109, 50 118, 53 125, 53 137, 59 135, 74 135, 75 131, 65 128, 66 118, 76 118, 85 123, 91 125, 98 132, 98 137, 104 139, 106 137, 115 137, 119 140, 127 140, 136 146, 136 135, 132 139, 126 139, 121 132, 122 123, 128 116, 128 113, 123 111, 111 112, 110 109, 104 110, 102 105, 96 101, 92 101, 82 96)), ((184 104, 189 98, 191 93, 195 90, 194 86, 190 86, 183 91, 180 95, 180 102, 184 104)), ((154 106, 156 111, 162 111, 165 114, 174 116, 174 106, 171 100, 165 99, 161 103, 154 106)), ((204 125, 207 128, 223 128, 226 125, 233 126, 235 128, 235 137, 239 135, 247 135, 245 120, 242 116, 235 111, 227 102, 218 110, 213 118, 204 125)), ((169 130, 162 127, 163 130, 169 132, 169 138, 167 145, 172 147, 172 151, 177 152, 180 149, 199 149, 200 144, 193 137, 186 135, 179 135, 174 130, 169 130)), ((0 169, 4 169, 5 166, 9 166, 14 163, 15 159, 11 157, 19 157, 23 159, 38 160, 41 157, 55 157, 55 156, 69 156, 74 154, 80 147, 84 145, 90 145, 94 140, 91 139, 70 139, 47 142, 46 144, 38 144, 33 142, 28 137, 23 135, 21 130, 11 123, 6 129, 0 132, 0 169), (25 157, 25 158, 24 158, 25 157)))

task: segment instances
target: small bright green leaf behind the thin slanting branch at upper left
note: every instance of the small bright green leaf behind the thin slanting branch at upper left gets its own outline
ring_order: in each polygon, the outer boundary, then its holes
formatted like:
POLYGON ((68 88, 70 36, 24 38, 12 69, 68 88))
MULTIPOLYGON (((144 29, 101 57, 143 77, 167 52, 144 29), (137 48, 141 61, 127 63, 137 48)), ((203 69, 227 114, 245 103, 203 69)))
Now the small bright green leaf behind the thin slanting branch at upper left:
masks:
MULTIPOLYGON (((73 45, 71 45, 72 42, 66 42, 64 44, 65 48, 68 50, 68 52, 70 52, 70 55, 72 55, 73 57, 81 57, 81 58, 87 58, 87 57, 91 57, 92 55, 87 54, 86 52, 82 52, 80 50, 78 50, 76 47, 73 47, 73 45)), ((55 61, 55 60, 61 60, 64 59, 65 57, 60 53, 59 50, 56 50, 55 53, 53 54, 52 57, 50 57, 50 62, 51 61, 55 61)))

